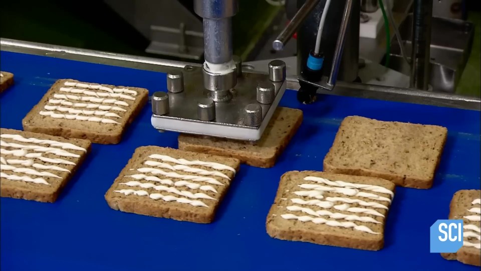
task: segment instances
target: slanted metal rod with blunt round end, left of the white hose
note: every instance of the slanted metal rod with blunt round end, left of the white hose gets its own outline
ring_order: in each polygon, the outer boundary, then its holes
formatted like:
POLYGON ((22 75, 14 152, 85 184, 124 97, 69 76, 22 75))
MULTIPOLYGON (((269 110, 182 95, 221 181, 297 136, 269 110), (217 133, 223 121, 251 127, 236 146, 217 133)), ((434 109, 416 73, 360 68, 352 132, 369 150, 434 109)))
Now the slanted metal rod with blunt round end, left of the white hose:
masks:
POLYGON ((284 45, 291 39, 292 35, 296 32, 304 19, 311 13, 316 7, 319 0, 307 0, 299 11, 294 15, 291 22, 284 28, 284 30, 277 36, 276 40, 272 42, 272 48, 276 51, 284 49, 284 45))

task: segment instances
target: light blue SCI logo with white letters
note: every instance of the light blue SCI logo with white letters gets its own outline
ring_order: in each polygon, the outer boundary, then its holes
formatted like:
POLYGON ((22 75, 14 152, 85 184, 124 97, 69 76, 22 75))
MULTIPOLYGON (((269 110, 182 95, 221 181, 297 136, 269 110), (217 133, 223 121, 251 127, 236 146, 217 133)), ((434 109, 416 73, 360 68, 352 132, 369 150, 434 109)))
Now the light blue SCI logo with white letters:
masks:
POLYGON ((440 219, 430 227, 430 252, 453 253, 462 246, 462 219, 440 219))

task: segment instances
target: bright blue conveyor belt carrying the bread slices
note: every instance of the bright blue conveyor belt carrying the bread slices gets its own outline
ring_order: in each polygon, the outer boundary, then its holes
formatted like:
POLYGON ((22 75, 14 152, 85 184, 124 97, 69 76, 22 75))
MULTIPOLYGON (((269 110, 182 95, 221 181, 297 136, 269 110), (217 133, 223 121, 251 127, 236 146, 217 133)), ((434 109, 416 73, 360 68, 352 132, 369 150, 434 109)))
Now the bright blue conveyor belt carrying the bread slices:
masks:
MULTIPOLYGON (((1 69, 16 83, 1 94, 0 124, 22 129, 22 118, 61 78, 166 91, 165 74, 43 56, 1 52, 1 69)), ((460 189, 480 189, 480 114, 352 97, 322 96, 312 105, 286 91, 282 106, 300 108, 304 122, 277 165, 243 165, 215 222, 196 224, 123 213, 104 194, 139 146, 177 148, 177 133, 157 132, 146 106, 118 145, 92 152, 55 203, 0 200, 0 269, 11 270, 478 270, 429 253, 429 227, 446 219, 460 189), (442 125, 449 134, 434 186, 398 188, 380 251, 290 242, 266 233, 266 215, 281 175, 322 170, 345 116, 442 125)))

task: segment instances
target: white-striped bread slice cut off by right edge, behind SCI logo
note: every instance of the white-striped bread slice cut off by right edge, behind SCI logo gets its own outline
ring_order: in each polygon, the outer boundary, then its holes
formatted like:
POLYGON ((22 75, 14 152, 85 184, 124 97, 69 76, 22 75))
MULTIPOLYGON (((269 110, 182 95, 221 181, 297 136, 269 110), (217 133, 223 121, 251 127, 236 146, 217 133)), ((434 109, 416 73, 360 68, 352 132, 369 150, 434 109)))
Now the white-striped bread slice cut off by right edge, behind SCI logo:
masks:
POLYGON ((481 266, 481 190, 459 190, 449 204, 449 219, 463 220, 463 246, 456 253, 441 253, 450 260, 481 266))

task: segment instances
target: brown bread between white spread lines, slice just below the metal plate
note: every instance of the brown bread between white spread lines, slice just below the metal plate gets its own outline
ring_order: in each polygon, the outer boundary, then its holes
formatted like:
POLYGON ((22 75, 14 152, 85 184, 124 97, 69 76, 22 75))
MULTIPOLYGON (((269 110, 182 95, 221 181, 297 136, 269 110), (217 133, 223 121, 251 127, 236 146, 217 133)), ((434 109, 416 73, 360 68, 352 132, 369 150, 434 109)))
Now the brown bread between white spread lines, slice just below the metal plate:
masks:
POLYGON ((240 166, 240 161, 235 159, 235 158, 225 158, 225 157, 218 157, 218 156, 212 156, 212 155, 207 155, 207 154, 198 154, 198 153, 192 153, 192 152, 184 152, 184 151, 179 151, 175 149, 170 149, 170 148, 161 148, 161 147, 155 147, 155 146, 146 146, 146 147, 139 147, 135 150, 135 153, 133 154, 132 158, 129 160, 127 166, 122 170, 120 175, 115 179, 113 185, 110 187, 110 189, 107 191, 105 194, 105 199, 107 200, 108 205, 115 210, 120 210, 123 212, 128 212, 128 213, 136 213, 136 214, 142 214, 142 215, 148 215, 148 216, 155 216, 155 217, 164 217, 164 218, 172 218, 175 220, 181 220, 181 221, 191 221, 191 222, 196 222, 196 223, 210 223, 214 220, 215 216, 215 211, 217 207, 219 206, 220 202, 222 201, 224 195, 226 194, 230 182, 234 178, 234 173, 230 170, 215 170, 210 167, 205 167, 205 166, 198 166, 198 165, 190 165, 189 167, 191 168, 196 168, 196 169, 203 169, 207 171, 218 171, 221 172, 225 175, 227 175, 230 180, 224 178, 224 177, 218 177, 218 176, 204 176, 204 175, 199 175, 197 173, 190 173, 182 170, 176 170, 172 171, 169 169, 165 168, 158 168, 154 166, 148 166, 145 165, 145 162, 150 160, 150 161, 159 161, 165 164, 169 164, 171 166, 175 166, 178 164, 172 163, 172 162, 166 162, 166 161, 160 161, 156 159, 149 158, 150 155, 166 155, 170 156, 175 159, 185 159, 188 161, 203 161, 203 162, 214 162, 214 163, 220 163, 226 166, 229 166, 233 168, 236 172, 239 169, 240 166), (191 180, 183 180, 179 178, 170 178, 165 175, 161 174, 155 174, 155 173, 141 173, 137 171, 139 168, 145 168, 145 167, 151 167, 151 168, 156 168, 160 169, 164 172, 175 172, 181 175, 194 175, 194 176, 199 176, 199 177, 211 177, 220 182, 222 185, 216 185, 216 184, 210 184, 206 183, 203 181, 191 181, 191 180), (161 182, 154 181, 154 180, 149 180, 146 181, 145 179, 135 179, 133 177, 129 177, 130 175, 134 174, 144 174, 146 176, 155 176, 158 177, 159 179, 168 179, 172 181, 174 184, 162 184, 161 182), (142 188, 142 187, 132 187, 128 186, 125 183, 129 181, 138 181, 141 183, 151 183, 154 185, 158 186, 164 186, 161 189, 156 189, 156 188, 142 188), (182 181, 187 181, 191 184, 200 184, 200 185, 210 185, 213 187, 216 192, 213 191, 206 191, 202 190, 201 187, 199 188, 190 188, 185 185, 177 185, 179 184, 178 182, 182 181), (177 202, 176 200, 170 200, 166 201, 163 199, 151 199, 149 196, 152 193, 161 193, 164 196, 174 196, 177 198, 183 198, 183 199, 190 199, 194 200, 192 198, 189 198, 188 196, 182 196, 178 195, 176 193, 171 193, 165 191, 165 187, 173 187, 177 189, 178 191, 187 191, 190 193, 204 193, 212 198, 212 199, 197 199, 205 203, 208 207, 204 206, 193 206, 187 203, 180 203, 177 202), (134 194, 130 195, 125 195, 123 193, 115 192, 115 191, 120 191, 122 189, 132 189, 132 190, 144 190, 148 192, 148 196, 138 196, 134 194))

